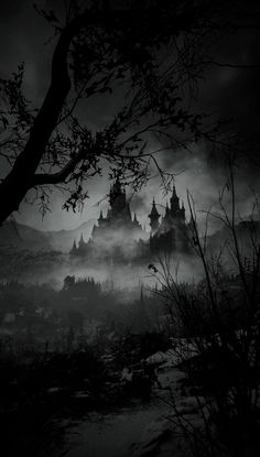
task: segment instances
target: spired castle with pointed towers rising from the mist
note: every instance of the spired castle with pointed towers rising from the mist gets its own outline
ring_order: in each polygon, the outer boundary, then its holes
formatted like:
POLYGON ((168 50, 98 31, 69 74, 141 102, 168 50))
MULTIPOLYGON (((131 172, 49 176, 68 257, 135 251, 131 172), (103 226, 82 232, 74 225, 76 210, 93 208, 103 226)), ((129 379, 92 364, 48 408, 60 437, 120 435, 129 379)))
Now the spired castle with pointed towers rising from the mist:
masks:
POLYGON ((109 193, 107 216, 100 211, 90 239, 85 242, 82 233, 78 246, 74 241, 69 253, 73 258, 95 262, 129 263, 151 261, 162 252, 191 252, 185 208, 180 206, 175 186, 165 214, 160 215, 153 199, 149 218, 150 233, 142 228, 137 215, 132 216, 126 189, 116 179, 109 193))

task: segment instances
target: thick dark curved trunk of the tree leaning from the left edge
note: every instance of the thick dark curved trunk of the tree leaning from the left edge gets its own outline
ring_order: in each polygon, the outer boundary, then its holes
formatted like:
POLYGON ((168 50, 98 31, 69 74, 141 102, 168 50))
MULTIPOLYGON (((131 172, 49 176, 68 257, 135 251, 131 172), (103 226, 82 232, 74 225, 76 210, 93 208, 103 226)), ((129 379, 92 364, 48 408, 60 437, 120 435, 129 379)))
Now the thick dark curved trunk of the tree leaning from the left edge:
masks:
POLYGON ((15 160, 10 173, 0 184, 0 225, 13 211, 19 210, 20 204, 28 191, 36 185, 34 182, 35 172, 71 89, 67 53, 78 25, 77 19, 61 33, 53 55, 52 80, 46 97, 34 120, 24 150, 15 160))

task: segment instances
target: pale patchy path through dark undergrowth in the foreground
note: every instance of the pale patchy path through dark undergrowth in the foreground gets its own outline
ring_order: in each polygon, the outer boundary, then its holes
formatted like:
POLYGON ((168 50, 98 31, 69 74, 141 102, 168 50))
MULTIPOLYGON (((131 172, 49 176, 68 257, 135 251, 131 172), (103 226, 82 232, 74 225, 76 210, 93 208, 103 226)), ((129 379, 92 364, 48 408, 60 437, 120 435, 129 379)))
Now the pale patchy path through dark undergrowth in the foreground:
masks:
POLYGON ((187 426, 199 427, 199 399, 184 388, 185 374, 171 352, 153 359, 160 357, 164 360, 158 370, 161 387, 153 385, 149 402, 133 399, 131 405, 118 411, 90 413, 69 425, 63 447, 50 457, 186 457, 188 443, 178 417, 187 426))

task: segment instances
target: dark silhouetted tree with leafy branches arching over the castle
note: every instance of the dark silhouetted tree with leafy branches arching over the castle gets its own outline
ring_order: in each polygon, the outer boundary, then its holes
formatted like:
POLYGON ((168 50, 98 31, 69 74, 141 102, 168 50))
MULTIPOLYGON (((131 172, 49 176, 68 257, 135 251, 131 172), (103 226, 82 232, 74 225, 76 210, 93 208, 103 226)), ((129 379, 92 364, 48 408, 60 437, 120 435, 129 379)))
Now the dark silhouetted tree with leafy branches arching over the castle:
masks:
POLYGON ((162 174, 151 135, 164 137, 171 148, 185 145, 186 138, 215 138, 189 102, 209 62, 207 44, 219 31, 240 26, 227 19, 232 2, 224 9, 221 1, 205 0, 131 0, 120 7, 95 1, 83 9, 71 1, 63 25, 53 11, 37 11, 57 35, 51 83, 33 109, 22 91, 23 65, 0 79, 0 156, 9 165, 0 183, 0 224, 29 189, 44 208, 48 186, 65 184, 65 208, 76 209, 87 195, 85 182, 101 174, 104 161, 111 175, 136 187, 148 178, 151 162, 162 174), (119 85, 123 104, 102 130, 90 131, 79 104, 112 97, 119 85))

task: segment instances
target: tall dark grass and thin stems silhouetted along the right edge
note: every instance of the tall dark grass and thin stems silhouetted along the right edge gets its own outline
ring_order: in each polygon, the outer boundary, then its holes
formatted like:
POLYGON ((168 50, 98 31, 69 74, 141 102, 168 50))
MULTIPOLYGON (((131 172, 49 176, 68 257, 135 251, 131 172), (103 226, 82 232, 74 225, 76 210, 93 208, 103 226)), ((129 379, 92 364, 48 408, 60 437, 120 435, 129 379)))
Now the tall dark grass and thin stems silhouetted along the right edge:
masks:
POLYGON ((259 218, 258 200, 247 235, 247 258, 238 233, 232 161, 228 161, 227 183, 219 196, 220 211, 207 213, 207 218, 217 217, 227 230, 227 240, 219 250, 212 251, 208 246, 207 222, 201 236, 189 194, 188 205, 192 240, 204 280, 191 285, 180 283, 165 261, 161 261, 155 276, 161 284, 156 293, 167 304, 176 355, 189 385, 197 389, 198 411, 206 412, 203 429, 187 422, 175 401, 172 406, 192 455, 254 457, 259 454, 260 404, 260 244, 254 222, 254 217, 259 218), (230 197, 229 209, 226 194, 230 197), (224 255, 228 255, 228 269, 223 268, 224 255))

